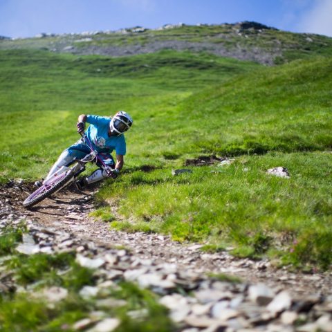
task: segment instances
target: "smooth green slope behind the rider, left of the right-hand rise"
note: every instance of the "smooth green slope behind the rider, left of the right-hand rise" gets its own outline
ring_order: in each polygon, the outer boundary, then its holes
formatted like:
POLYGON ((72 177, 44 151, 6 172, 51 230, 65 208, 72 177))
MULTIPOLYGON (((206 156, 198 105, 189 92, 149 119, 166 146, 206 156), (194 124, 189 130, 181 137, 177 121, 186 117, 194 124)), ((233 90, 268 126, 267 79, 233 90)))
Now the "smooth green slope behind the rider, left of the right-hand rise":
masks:
MULTIPOLYGON (((126 109, 137 128, 146 129, 156 115, 176 113, 174 106, 192 91, 257 67, 190 53, 110 59, 1 51, 2 181, 45 173, 57 154, 77 140, 80 113, 111 115, 126 109)), ((138 132, 133 135, 142 142, 138 132)))

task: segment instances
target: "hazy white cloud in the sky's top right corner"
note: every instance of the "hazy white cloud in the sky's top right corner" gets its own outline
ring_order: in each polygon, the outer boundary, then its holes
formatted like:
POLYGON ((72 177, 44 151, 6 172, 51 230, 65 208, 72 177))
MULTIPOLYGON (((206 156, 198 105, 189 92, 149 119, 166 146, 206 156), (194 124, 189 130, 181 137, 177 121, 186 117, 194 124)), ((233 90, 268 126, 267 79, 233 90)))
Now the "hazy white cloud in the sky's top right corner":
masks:
POLYGON ((302 33, 317 33, 332 37, 332 1, 315 0, 311 9, 299 20, 297 29, 302 33))

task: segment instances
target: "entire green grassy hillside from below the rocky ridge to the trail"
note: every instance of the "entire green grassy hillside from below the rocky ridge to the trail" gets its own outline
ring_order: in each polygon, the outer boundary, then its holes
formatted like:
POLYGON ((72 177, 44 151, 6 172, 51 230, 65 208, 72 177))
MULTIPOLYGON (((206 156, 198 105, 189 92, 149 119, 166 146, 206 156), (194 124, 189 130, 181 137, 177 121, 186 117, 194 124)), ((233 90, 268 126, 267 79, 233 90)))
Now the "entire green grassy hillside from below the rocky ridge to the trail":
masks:
POLYGON ((0 77, 2 182, 44 176, 77 139, 78 114, 123 109, 134 118, 126 166, 97 197, 96 214, 116 219, 113 227, 331 265, 328 57, 268 68, 172 50, 118 58, 1 50, 0 77), (212 154, 235 160, 172 176, 212 154), (266 174, 277 166, 291 178, 266 174))

